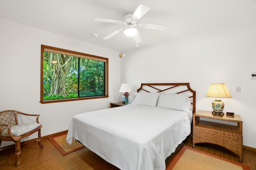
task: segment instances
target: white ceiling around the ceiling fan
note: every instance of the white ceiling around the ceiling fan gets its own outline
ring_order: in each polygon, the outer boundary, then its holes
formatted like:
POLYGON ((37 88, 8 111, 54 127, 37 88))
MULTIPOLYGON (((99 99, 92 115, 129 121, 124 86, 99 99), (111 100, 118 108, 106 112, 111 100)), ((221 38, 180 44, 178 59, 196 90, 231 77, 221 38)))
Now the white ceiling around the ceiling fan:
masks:
POLYGON ((256 23, 256 0, 0 0, 0 18, 123 52, 138 48, 132 37, 120 32, 103 40, 122 25, 92 20, 122 20, 140 4, 151 10, 139 23, 169 25, 169 29, 140 28, 143 41, 138 47, 256 23))

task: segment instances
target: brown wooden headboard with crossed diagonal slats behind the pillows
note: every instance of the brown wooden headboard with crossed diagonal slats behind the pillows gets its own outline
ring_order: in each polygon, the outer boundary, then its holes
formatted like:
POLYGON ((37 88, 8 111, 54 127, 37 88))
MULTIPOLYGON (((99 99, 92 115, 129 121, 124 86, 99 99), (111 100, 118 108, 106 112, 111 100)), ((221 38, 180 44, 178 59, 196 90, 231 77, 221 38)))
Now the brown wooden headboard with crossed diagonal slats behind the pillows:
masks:
POLYGON ((193 114, 196 112, 196 91, 190 88, 189 83, 142 83, 137 92, 185 94, 191 100, 193 114))

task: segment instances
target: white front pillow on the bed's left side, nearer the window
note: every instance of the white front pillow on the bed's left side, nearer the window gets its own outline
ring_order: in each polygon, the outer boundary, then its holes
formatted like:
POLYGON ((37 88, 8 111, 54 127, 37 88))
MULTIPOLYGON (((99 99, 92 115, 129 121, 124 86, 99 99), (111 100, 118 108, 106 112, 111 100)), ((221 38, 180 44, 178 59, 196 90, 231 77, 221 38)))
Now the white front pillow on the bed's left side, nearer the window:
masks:
POLYGON ((135 99, 132 104, 156 107, 159 93, 135 93, 135 99))

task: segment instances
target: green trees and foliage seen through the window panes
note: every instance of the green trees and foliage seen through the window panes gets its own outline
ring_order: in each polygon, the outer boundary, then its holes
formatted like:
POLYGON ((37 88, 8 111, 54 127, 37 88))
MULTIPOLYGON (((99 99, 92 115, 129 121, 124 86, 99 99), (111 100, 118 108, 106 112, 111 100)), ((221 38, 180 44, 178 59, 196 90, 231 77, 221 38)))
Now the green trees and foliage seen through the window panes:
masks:
POLYGON ((105 62, 44 51, 43 100, 105 95, 105 62))

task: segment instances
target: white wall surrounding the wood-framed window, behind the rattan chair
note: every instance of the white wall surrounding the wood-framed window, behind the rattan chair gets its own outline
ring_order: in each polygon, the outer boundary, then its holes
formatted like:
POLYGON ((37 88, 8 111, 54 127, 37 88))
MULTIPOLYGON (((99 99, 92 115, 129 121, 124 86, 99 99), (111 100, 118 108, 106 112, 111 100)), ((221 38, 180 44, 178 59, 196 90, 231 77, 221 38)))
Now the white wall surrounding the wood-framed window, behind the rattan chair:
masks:
MULTIPOLYGON (((78 113, 109 107, 118 102, 120 93, 120 62, 118 51, 42 31, 0 18, 0 111, 14 109, 40 114, 41 135, 67 130, 78 113), (78 51, 109 59, 108 98, 41 104, 41 44, 78 51)), ((22 141, 34 139, 37 133, 22 141)), ((2 142, 1 147, 13 142, 2 142)))

